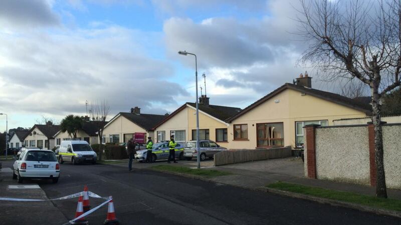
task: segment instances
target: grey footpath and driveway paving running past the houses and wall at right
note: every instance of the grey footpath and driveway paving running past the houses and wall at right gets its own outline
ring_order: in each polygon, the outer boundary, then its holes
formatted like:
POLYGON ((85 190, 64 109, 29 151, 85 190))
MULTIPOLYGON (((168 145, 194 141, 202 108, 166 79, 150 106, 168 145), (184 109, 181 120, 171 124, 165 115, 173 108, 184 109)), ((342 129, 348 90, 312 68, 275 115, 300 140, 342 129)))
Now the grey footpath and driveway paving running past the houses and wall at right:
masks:
MULTIPOLYGON (((116 163, 113 165, 126 167, 127 163, 128 161, 123 161, 122 163, 116 163)), ((176 172, 173 169, 164 170, 163 167, 161 167, 161 169, 156 169, 157 166, 165 166, 165 165, 178 166, 184 168, 196 168, 196 161, 181 160, 178 163, 170 163, 170 164, 167 164, 166 161, 158 161, 155 163, 134 162, 133 168, 134 170, 152 169, 160 172, 172 173, 176 175, 181 175, 195 179, 202 179, 205 181, 216 182, 220 184, 233 185, 257 191, 272 192, 290 197, 313 200, 321 203, 349 207, 362 211, 396 216, 401 218, 401 211, 379 209, 372 206, 315 197, 311 195, 267 187, 269 184, 274 184, 281 181, 285 183, 300 184, 309 187, 318 187, 335 191, 346 191, 357 194, 363 194, 367 196, 374 196, 375 187, 372 186, 305 178, 303 175, 304 174, 303 162, 299 158, 292 157, 292 158, 268 159, 268 160, 244 162, 244 163, 221 165, 221 166, 214 166, 213 160, 201 162, 201 169, 203 170, 215 170, 215 171, 217 170, 220 172, 229 173, 228 175, 218 175, 218 176, 203 176, 203 175, 188 174, 185 172, 184 173, 176 172)), ((401 190, 387 189, 387 194, 388 198, 401 200, 401 190)))

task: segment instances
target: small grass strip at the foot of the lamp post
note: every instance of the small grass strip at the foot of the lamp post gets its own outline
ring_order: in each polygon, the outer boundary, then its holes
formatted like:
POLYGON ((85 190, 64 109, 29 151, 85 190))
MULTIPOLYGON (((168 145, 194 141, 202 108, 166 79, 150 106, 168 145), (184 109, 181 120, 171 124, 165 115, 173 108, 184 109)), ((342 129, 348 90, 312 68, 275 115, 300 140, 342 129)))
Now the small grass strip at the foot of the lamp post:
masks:
POLYGON ((214 169, 192 169, 184 166, 173 166, 173 165, 155 165, 151 167, 152 169, 159 171, 170 171, 176 173, 184 173, 190 175, 199 175, 204 177, 215 177, 215 176, 224 176, 231 174, 226 171, 219 171, 214 169))

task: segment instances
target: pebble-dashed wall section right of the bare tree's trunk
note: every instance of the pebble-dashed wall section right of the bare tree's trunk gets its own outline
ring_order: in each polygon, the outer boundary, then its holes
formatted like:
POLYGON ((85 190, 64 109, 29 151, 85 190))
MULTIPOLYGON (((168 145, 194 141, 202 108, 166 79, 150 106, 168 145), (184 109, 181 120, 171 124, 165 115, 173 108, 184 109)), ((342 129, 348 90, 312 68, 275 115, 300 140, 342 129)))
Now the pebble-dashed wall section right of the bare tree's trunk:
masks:
POLYGON ((384 125, 382 128, 386 185, 401 189, 401 125, 384 125))

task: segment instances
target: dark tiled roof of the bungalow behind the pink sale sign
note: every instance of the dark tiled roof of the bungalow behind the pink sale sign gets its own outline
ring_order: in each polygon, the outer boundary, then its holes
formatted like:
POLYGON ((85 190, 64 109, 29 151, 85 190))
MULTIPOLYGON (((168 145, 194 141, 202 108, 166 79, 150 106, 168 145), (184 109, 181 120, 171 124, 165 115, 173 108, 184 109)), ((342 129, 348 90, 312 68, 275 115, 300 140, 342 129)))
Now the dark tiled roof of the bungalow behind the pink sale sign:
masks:
POLYGON ((152 130, 152 128, 157 123, 159 123, 166 117, 166 115, 144 114, 144 113, 136 114, 131 112, 120 112, 119 114, 121 114, 131 122, 137 124, 138 126, 144 128, 145 130, 152 130))

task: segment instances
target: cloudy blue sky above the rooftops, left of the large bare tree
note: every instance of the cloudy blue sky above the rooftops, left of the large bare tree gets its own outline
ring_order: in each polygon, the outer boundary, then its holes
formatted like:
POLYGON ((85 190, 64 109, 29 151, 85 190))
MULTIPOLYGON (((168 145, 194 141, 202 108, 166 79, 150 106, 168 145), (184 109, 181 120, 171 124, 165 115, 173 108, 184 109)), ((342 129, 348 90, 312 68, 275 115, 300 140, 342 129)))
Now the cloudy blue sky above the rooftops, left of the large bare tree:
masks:
MULTIPOLYGON (((110 118, 195 100, 244 108, 308 68, 298 0, 1 0, 0 112, 9 128, 106 100, 110 118)), ((310 69, 310 68, 309 68, 310 69)), ((313 70, 309 72, 314 76, 313 70)), ((329 85, 313 79, 313 87, 329 85)), ((6 130, 0 115, 0 130, 6 130)))

